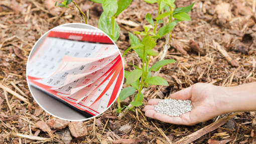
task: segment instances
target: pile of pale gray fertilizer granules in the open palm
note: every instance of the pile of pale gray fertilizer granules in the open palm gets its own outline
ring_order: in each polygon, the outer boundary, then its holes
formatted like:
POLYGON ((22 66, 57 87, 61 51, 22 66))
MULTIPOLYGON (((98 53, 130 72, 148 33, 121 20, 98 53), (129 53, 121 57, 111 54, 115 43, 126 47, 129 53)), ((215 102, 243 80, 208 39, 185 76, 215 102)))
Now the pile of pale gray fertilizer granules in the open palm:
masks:
POLYGON ((164 113, 170 116, 181 116, 192 110, 190 100, 165 99, 154 106, 158 113, 164 113))

